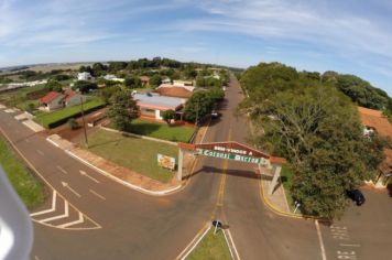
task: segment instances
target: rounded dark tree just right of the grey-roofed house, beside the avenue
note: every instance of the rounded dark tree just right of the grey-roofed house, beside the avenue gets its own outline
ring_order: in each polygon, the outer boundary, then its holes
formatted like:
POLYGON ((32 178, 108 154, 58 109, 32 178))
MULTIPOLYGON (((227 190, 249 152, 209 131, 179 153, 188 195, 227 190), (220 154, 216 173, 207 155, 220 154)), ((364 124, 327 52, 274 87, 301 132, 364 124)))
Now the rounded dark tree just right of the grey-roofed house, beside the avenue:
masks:
POLYGON ((207 91, 195 93, 185 104, 184 117, 190 122, 199 122, 213 110, 214 100, 207 91))

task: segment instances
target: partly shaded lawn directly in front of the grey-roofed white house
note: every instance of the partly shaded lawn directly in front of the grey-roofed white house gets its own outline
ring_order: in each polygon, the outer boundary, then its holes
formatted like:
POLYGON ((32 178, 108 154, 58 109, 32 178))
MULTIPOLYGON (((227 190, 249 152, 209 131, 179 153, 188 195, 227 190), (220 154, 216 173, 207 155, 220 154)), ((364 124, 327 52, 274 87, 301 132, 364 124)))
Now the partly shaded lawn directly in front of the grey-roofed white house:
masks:
POLYGON ((183 126, 151 122, 143 119, 132 121, 130 132, 174 142, 188 142, 195 129, 183 126))

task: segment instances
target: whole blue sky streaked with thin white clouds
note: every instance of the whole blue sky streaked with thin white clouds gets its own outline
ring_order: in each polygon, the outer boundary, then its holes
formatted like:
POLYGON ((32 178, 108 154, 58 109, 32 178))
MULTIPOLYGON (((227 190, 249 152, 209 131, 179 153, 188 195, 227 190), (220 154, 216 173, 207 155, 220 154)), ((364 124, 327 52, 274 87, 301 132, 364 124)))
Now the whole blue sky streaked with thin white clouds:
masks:
POLYGON ((392 96, 390 0, 0 0, 0 67, 165 56, 356 74, 392 96))

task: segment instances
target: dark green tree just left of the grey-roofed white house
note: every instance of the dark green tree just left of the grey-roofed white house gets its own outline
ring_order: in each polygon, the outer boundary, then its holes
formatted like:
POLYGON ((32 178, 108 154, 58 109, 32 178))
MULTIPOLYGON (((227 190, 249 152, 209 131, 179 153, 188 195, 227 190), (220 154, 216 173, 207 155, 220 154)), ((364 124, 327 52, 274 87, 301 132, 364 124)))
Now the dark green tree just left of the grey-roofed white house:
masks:
POLYGON ((120 90, 111 97, 108 117, 117 129, 127 131, 131 121, 139 117, 139 107, 129 90, 120 90))

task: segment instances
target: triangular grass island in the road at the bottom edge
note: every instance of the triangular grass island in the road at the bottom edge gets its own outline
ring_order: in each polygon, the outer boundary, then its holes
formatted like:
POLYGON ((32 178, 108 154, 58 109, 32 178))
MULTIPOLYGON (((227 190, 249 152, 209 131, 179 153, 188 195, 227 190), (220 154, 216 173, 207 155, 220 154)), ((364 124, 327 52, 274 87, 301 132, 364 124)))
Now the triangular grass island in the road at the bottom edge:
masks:
POLYGON ((231 259, 224 231, 214 235, 214 227, 209 229, 199 245, 190 252, 186 260, 226 260, 231 259))

